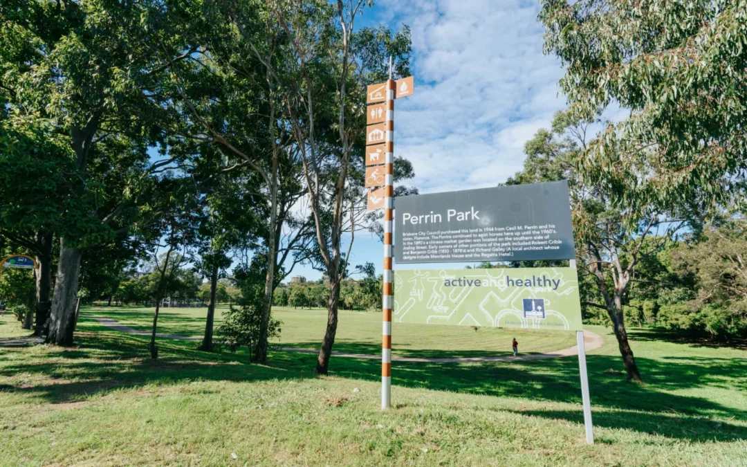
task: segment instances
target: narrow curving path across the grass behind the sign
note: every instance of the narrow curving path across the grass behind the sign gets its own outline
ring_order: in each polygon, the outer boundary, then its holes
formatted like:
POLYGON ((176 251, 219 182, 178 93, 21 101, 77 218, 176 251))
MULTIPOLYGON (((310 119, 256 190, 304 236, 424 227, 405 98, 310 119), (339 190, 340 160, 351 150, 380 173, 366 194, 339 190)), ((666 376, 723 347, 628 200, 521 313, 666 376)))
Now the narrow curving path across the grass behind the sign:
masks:
MULTIPOLYGON (((102 326, 108 327, 111 330, 120 331, 120 333, 134 334, 134 335, 150 335, 148 331, 136 330, 132 327, 120 324, 111 318, 105 318, 103 316, 86 315, 87 318, 91 318, 94 321, 102 324, 102 326)), ((176 339, 179 341, 201 341, 201 337, 187 337, 186 335, 176 334, 162 334, 156 333, 157 337, 176 339)), ((604 338, 601 335, 592 333, 591 331, 583 332, 583 343, 586 347, 586 351, 595 350, 604 344, 604 338)), ((299 352, 299 353, 319 353, 319 350, 312 349, 299 349, 293 347, 280 347, 280 350, 286 350, 288 352, 299 352)), ((381 359, 380 355, 370 355, 368 353, 347 353, 347 352, 332 352, 334 356, 344 356, 353 359, 381 359)), ((544 360, 544 359, 557 359, 562 356, 573 356, 578 355, 578 346, 568 347, 560 350, 553 350, 552 352, 545 353, 532 353, 529 355, 519 356, 471 356, 471 357, 453 357, 453 358, 419 358, 413 356, 391 356, 394 362, 427 362, 427 363, 467 363, 467 362, 526 362, 527 360, 544 360)))

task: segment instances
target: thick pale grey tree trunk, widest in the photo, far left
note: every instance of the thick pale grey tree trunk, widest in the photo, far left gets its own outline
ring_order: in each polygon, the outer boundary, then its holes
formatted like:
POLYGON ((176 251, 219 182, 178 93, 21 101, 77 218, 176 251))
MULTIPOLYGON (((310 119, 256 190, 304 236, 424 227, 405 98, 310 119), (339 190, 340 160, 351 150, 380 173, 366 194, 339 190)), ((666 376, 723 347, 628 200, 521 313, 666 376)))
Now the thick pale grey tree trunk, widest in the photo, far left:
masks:
POLYGON ((60 239, 60 263, 57 268, 55 297, 46 341, 63 346, 72 345, 75 324, 75 294, 78 292, 78 273, 81 270, 80 248, 69 247, 66 238, 60 239))

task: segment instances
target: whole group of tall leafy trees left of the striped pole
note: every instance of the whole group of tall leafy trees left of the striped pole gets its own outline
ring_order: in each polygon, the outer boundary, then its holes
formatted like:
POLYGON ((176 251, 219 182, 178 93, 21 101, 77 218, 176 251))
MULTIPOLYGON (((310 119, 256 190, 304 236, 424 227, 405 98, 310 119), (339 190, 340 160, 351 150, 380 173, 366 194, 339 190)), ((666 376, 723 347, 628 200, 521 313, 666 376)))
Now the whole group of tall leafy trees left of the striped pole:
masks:
MULTIPOLYGON (((307 263, 329 277, 326 373, 350 268, 341 239, 380 231, 365 206, 365 89, 390 56, 395 78, 409 74, 408 28, 356 28, 370 3, 2 2, 0 250, 39 263, 35 333, 72 345, 81 301, 147 298, 156 358, 162 299, 204 277, 212 350, 233 266, 264 362, 274 291, 307 263)), ((412 176, 397 158, 394 179, 412 176)))

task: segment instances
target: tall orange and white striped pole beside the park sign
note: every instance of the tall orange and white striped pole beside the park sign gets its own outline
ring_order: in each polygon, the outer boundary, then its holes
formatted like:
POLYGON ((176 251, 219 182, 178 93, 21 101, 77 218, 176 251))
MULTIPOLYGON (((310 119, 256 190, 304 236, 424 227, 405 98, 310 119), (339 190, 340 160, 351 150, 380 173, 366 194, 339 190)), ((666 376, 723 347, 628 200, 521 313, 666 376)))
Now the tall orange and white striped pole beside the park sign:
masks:
POLYGON ((381 346, 381 408, 388 409, 391 400, 391 309, 394 305, 394 271, 391 269, 391 224, 394 216, 394 89, 391 79, 386 81, 385 166, 384 166, 384 285, 382 297, 381 346))

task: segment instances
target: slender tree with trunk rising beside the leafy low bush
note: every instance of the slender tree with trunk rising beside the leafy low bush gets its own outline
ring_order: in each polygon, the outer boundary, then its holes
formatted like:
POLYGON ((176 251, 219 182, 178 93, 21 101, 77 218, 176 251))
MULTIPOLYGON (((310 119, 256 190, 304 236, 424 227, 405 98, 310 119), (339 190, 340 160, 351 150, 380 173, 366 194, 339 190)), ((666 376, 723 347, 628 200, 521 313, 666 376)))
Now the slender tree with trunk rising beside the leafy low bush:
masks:
POLYGON ((306 259, 313 241, 312 225, 298 208, 306 190, 284 112, 287 78, 273 74, 292 57, 282 31, 264 21, 263 2, 208 1, 203 11, 213 26, 195 34, 200 46, 190 60, 170 68, 167 89, 181 119, 178 132, 214 146, 223 163, 219 173, 255 173, 261 180, 251 205, 265 213, 258 236, 266 267, 252 359, 264 362, 273 291, 306 259))

